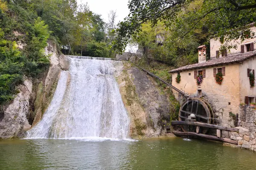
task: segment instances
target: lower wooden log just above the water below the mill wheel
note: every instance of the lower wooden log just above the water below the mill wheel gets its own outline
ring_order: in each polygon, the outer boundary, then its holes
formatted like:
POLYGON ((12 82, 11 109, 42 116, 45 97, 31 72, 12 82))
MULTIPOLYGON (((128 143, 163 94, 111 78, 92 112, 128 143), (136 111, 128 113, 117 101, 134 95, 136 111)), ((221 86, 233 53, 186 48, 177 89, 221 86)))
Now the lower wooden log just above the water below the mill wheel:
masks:
POLYGON ((173 134, 176 136, 189 136, 189 137, 197 137, 197 138, 203 138, 203 139, 209 139, 213 141, 218 141, 218 142, 226 142, 230 144, 236 144, 237 141, 234 141, 232 139, 227 139, 227 138, 218 138, 217 136, 211 136, 211 135, 205 135, 202 133, 195 133, 195 132, 179 132, 179 131, 172 131, 173 134))

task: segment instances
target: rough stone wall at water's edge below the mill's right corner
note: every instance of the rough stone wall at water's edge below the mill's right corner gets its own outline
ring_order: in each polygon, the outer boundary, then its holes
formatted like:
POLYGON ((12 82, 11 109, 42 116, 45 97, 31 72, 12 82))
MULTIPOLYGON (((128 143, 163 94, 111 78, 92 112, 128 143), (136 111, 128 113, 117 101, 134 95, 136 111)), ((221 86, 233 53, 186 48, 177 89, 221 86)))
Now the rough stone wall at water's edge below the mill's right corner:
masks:
POLYGON ((232 132, 230 139, 238 141, 238 146, 256 151, 256 107, 240 106, 239 132, 232 132))

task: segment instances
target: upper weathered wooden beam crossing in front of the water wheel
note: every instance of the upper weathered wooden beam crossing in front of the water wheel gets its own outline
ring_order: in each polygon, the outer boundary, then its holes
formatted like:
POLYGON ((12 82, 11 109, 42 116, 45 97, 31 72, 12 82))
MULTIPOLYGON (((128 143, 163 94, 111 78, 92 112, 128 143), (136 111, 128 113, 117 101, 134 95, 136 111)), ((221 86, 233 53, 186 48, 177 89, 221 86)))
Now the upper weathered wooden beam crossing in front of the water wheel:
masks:
POLYGON ((212 129, 239 132, 239 129, 236 129, 236 128, 212 125, 212 124, 201 123, 201 122, 172 121, 172 125, 194 125, 194 126, 200 126, 200 127, 208 127, 208 128, 212 128, 212 129))

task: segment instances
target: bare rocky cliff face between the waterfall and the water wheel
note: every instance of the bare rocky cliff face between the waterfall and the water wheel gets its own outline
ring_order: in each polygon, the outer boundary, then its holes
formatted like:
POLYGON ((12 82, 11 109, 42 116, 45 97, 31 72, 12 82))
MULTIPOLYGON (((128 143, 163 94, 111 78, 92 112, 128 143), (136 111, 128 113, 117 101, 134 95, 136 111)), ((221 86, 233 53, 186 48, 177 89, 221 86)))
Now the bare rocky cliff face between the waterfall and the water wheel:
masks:
POLYGON ((116 76, 125 108, 131 118, 130 136, 150 138, 168 136, 166 120, 170 119, 169 100, 161 94, 151 77, 124 62, 116 76))

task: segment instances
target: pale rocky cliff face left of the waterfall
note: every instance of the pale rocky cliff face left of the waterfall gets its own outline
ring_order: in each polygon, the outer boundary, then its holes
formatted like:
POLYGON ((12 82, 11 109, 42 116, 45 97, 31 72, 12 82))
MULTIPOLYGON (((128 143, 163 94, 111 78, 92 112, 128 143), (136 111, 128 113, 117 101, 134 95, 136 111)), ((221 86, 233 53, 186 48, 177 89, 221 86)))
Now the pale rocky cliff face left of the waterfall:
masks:
POLYGON ((0 139, 23 138, 26 130, 39 122, 47 109, 59 74, 61 70, 68 69, 69 63, 64 55, 58 54, 51 42, 45 48, 45 54, 50 56, 49 69, 40 79, 24 78, 23 85, 17 87, 20 93, 0 113, 0 139))

